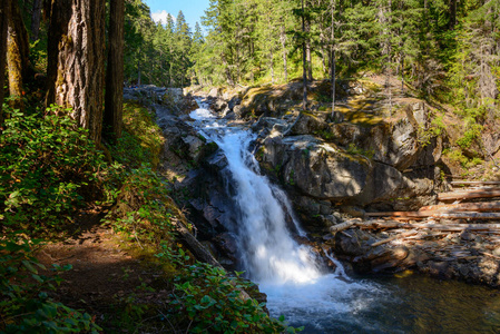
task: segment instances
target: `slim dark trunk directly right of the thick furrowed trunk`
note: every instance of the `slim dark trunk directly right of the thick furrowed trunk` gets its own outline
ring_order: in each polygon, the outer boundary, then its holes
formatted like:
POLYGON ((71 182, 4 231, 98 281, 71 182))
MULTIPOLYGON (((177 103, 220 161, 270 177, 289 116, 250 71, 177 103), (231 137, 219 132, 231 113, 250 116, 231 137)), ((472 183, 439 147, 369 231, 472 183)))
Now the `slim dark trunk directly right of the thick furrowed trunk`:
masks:
POLYGON ((121 137, 124 111, 124 22, 125 1, 111 0, 104 127, 115 138, 121 137))

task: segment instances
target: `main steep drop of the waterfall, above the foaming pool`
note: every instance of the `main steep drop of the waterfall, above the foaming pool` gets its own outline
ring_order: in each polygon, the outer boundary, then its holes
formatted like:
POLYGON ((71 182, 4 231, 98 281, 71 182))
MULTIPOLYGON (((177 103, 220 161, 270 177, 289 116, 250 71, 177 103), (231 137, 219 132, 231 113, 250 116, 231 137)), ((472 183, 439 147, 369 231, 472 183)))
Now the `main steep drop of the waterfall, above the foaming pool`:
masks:
POLYGON ((249 278, 259 283, 305 283, 321 276, 314 255, 286 227, 285 212, 247 147, 253 136, 234 131, 217 139, 234 180, 238 235, 249 278))

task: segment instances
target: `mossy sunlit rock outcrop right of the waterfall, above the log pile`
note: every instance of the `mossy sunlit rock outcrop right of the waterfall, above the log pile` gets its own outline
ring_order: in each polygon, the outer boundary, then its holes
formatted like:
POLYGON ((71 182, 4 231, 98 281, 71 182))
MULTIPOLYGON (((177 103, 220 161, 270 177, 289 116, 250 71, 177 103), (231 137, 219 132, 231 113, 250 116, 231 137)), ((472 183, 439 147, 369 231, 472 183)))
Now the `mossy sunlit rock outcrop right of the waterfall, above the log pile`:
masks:
MULTIPOLYGON (((310 94, 329 96, 329 85, 313 82, 310 94)), ((369 94, 360 84, 337 88, 339 99, 369 94)), ((317 101, 300 112, 300 82, 237 91, 214 88, 207 97, 212 109, 226 119, 257 118, 252 126, 258 134, 257 160, 292 195, 303 220, 329 222, 313 216, 327 216, 340 205, 362 215, 418 209, 435 199, 442 140, 428 136, 430 107, 421 100, 410 99, 389 117, 366 125, 340 111, 332 120, 317 101)))

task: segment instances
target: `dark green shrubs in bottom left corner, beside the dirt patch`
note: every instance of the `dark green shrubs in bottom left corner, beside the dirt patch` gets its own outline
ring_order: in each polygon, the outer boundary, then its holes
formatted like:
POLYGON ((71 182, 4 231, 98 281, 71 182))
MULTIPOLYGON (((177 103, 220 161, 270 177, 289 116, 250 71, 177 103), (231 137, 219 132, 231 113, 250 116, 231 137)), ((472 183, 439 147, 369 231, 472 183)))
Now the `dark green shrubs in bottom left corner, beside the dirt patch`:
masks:
MULTIPOLYGON (((99 333, 89 314, 49 297, 60 278, 39 273, 46 267, 32 257, 33 246, 19 235, 0 238, 0 332, 99 333)), ((52 271, 69 268, 55 265, 52 271)))

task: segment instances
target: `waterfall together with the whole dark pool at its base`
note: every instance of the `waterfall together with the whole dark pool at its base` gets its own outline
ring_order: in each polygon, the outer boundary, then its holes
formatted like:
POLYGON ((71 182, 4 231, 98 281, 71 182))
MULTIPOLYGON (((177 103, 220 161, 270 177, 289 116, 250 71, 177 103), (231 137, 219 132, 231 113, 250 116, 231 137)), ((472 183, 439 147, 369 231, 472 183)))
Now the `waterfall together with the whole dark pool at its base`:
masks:
POLYGON ((189 116, 228 160, 237 226, 227 228, 237 236, 241 269, 267 295, 272 316, 284 315, 303 333, 500 333, 498 289, 414 274, 349 277, 334 257, 332 273, 295 242, 305 233, 284 191, 259 173, 249 151, 254 134, 227 126, 203 102, 189 116))

